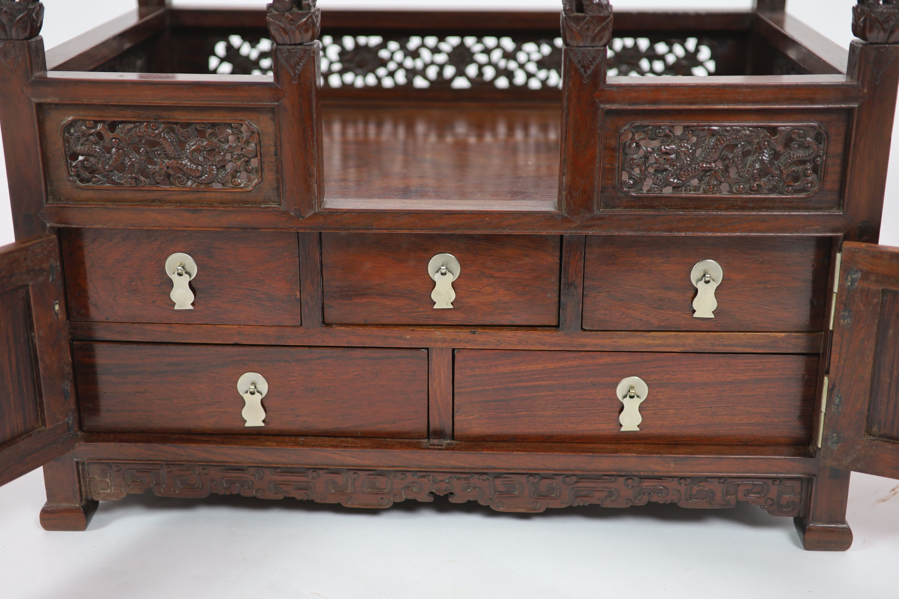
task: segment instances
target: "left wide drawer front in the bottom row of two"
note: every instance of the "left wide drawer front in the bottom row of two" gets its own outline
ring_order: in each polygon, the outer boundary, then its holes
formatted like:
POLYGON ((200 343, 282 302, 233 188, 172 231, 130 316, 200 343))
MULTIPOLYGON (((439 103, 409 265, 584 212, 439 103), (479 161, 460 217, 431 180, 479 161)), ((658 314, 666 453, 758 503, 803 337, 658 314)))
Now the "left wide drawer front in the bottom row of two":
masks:
POLYGON ((425 438, 423 349, 76 342, 85 431, 425 438), (247 427, 241 375, 262 374, 263 427, 247 427))

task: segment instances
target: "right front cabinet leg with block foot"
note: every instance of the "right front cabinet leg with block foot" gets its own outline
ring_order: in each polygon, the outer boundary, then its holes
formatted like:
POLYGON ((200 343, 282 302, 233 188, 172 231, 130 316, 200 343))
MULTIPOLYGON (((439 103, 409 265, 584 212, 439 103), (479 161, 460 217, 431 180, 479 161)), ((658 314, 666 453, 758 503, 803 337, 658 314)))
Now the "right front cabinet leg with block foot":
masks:
POLYGON ((807 551, 846 551, 852 530, 846 524, 850 472, 828 468, 814 478, 808 515, 794 518, 807 551))

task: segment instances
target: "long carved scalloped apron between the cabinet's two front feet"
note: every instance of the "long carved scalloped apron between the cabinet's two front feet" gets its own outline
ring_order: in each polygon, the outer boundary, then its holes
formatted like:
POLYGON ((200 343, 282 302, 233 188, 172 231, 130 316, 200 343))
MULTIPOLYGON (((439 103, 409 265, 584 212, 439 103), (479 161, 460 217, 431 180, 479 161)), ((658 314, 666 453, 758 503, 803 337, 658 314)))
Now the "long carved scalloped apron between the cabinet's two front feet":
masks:
POLYGON ((449 496, 477 501, 500 512, 543 512, 550 507, 631 507, 673 503, 680 507, 734 507, 738 501, 771 515, 804 515, 809 480, 763 477, 637 477, 602 474, 376 471, 270 468, 211 464, 85 464, 92 499, 118 500, 152 490, 159 497, 242 495, 296 498, 345 507, 391 507, 414 499, 449 496))

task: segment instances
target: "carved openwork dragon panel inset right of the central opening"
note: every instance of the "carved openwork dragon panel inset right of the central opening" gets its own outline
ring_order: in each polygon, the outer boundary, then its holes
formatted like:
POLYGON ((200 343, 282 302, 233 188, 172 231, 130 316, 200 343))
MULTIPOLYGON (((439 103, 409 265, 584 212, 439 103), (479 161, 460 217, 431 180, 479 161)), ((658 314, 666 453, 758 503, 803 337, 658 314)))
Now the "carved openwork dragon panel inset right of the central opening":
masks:
POLYGON ((821 188, 820 125, 654 125, 621 132, 620 185, 631 195, 808 196, 821 188))

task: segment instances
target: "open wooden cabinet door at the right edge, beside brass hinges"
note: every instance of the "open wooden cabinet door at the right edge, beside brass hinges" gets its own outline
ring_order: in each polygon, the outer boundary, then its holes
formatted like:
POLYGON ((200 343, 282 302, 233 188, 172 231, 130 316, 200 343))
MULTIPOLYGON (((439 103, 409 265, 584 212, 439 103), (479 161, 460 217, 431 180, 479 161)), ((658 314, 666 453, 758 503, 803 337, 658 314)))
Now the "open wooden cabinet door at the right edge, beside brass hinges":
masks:
POLYGON ((843 245, 824 465, 899 479, 899 248, 843 245))

